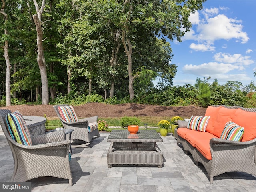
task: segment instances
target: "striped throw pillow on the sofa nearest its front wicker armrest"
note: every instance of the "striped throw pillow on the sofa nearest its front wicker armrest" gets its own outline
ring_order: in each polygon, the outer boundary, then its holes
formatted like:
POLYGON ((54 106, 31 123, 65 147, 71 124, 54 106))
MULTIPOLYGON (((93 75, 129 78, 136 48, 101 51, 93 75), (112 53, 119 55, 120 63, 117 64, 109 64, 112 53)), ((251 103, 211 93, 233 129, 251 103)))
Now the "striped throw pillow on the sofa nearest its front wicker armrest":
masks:
POLYGON ((220 135, 221 139, 232 140, 232 141, 241 141, 244 135, 244 128, 235 124, 232 121, 229 121, 225 124, 224 130, 220 135))

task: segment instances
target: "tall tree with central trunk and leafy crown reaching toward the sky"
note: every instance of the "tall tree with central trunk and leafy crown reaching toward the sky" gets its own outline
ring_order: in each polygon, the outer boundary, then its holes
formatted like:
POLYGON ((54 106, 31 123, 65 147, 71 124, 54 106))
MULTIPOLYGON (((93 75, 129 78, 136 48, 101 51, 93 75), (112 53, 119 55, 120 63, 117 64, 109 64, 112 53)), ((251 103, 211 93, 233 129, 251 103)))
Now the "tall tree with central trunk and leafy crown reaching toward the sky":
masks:
POLYGON ((136 35, 147 39, 158 36, 162 39, 181 41, 191 23, 190 13, 202 8, 205 0, 166 0, 166 1, 131 1, 124 0, 121 19, 122 42, 128 58, 128 76, 130 100, 134 98, 132 75, 132 52, 136 35))

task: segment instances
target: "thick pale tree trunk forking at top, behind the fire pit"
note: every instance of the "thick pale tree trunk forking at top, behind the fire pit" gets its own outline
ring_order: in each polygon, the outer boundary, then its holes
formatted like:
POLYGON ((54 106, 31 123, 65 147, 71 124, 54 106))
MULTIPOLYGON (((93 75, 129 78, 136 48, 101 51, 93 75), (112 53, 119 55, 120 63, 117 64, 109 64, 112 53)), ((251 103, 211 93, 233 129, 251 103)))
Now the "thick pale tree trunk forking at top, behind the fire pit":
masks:
POLYGON ((41 8, 38 6, 36 0, 33 0, 36 7, 36 14, 33 15, 33 20, 36 25, 37 32, 37 63, 40 69, 41 74, 41 83, 42 83, 42 104, 49 104, 49 90, 48 90, 48 79, 47 79, 47 69, 44 58, 44 47, 43 47, 43 28, 42 28, 42 14, 44 12, 45 1, 42 0, 41 8))

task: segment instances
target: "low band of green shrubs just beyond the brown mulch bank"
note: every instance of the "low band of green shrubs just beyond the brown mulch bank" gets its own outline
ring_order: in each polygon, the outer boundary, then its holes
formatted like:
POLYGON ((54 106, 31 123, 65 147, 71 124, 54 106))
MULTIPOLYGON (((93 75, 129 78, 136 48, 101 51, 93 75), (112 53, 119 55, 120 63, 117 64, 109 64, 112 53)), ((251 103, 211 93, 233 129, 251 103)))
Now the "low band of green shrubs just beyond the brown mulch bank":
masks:
MULTIPOLYGON (((88 102, 105 102, 107 104, 122 104, 135 102, 140 104, 164 105, 164 106, 188 106, 196 105, 207 107, 209 105, 243 106, 245 108, 256 108, 256 86, 252 81, 243 86, 240 82, 229 81, 220 85, 217 80, 208 83, 208 79, 196 80, 196 84, 185 84, 184 86, 158 86, 138 91, 133 100, 126 97, 107 98, 106 100, 98 94, 78 94, 68 95, 58 94, 50 104, 71 104, 79 105, 88 102)), ((0 100, 2 106, 5 100, 0 100)), ((40 104, 40 102, 26 102, 12 99, 12 104, 40 104)))

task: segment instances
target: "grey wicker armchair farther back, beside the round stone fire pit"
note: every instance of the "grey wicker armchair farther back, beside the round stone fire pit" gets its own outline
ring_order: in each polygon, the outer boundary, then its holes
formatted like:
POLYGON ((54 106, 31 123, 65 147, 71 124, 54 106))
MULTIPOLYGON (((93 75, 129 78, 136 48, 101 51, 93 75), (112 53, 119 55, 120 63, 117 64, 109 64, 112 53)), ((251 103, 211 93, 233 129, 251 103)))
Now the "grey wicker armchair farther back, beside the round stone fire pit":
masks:
MULTIPOLYGON (((79 119, 78 121, 75 122, 67 122, 65 121, 58 110, 59 106, 69 106, 67 104, 62 104, 62 105, 54 105, 53 108, 60 118, 64 129, 74 129, 71 135, 71 140, 82 140, 87 142, 86 144, 81 144, 81 145, 74 145, 74 147, 80 147, 84 145, 88 145, 92 139, 98 138, 100 136, 98 128, 95 130, 92 130, 91 132, 88 132, 88 126, 89 123, 95 123, 98 120, 98 116, 93 116, 89 118, 84 118, 84 119, 79 119)), ((73 146, 73 145, 72 145, 73 146)))

